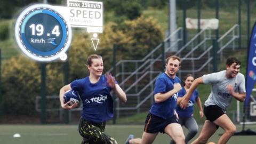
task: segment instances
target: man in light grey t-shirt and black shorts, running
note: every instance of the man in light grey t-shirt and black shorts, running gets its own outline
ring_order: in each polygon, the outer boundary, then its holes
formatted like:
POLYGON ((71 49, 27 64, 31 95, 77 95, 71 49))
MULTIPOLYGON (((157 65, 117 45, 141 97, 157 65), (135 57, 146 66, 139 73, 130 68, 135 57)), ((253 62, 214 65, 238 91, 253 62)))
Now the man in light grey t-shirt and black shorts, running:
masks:
POLYGON ((225 130, 225 133, 222 134, 218 143, 227 143, 236 132, 236 126, 226 115, 226 109, 233 97, 241 102, 245 99, 245 78, 239 73, 240 65, 241 62, 238 59, 228 58, 226 70, 195 79, 180 102, 181 108, 186 108, 192 92, 199 84, 212 85, 212 91, 204 104, 206 120, 199 137, 192 142, 193 144, 206 143, 219 126, 225 130))

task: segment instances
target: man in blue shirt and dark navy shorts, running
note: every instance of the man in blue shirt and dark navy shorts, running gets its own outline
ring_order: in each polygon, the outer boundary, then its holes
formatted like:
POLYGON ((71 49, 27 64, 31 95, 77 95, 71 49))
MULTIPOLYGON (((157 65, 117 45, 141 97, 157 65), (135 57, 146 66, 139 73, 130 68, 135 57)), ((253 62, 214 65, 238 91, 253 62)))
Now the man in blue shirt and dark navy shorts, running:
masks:
POLYGON ((180 58, 168 57, 165 68, 165 73, 156 79, 155 102, 146 118, 141 143, 153 143, 158 132, 168 134, 176 143, 185 143, 182 127, 174 115, 178 91, 181 89, 180 79, 176 76, 180 68, 180 58))

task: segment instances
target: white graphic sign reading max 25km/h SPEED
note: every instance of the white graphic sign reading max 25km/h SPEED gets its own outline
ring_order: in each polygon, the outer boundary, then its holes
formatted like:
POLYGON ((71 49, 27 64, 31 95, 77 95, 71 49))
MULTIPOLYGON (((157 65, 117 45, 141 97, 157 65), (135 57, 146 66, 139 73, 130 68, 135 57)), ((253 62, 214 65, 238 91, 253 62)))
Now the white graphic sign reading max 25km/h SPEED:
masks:
POLYGON ((67 7, 55 6, 71 27, 85 27, 88 33, 102 33, 102 2, 68 0, 67 7))

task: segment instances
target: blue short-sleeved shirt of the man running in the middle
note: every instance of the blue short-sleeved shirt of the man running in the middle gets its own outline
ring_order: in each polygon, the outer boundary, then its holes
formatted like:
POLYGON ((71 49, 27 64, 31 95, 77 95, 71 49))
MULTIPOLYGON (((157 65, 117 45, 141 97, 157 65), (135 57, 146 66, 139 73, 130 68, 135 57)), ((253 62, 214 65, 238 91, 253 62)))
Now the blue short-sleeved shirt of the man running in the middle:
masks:
MULTIPOLYGON (((162 73, 156 79, 154 95, 157 93, 166 93, 173 89, 174 83, 180 83, 180 78, 169 77, 167 74, 162 73)), ((174 109, 177 106, 178 92, 174 93, 169 99, 156 103, 151 106, 149 113, 167 119, 174 115, 174 109)))

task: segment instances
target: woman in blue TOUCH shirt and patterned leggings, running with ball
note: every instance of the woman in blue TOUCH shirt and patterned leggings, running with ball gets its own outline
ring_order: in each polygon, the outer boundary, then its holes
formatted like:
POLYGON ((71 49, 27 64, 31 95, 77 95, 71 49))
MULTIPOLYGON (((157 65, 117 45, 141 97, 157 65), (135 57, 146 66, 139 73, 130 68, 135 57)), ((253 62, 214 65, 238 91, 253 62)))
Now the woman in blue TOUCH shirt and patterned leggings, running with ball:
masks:
POLYGON ((60 103, 63 109, 72 109, 77 103, 63 102, 63 94, 73 89, 77 91, 83 102, 82 117, 78 131, 83 137, 82 144, 117 143, 114 138, 104 133, 106 121, 113 117, 113 90, 119 100, 126 102, 126 94, 110 74, 102 75, 103 60, 100 55, 92 54, 87 60, 90 76, 77 79, 60 89, 60 103))

